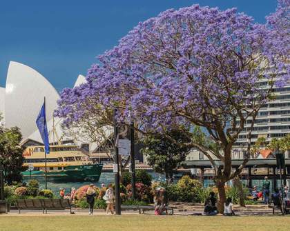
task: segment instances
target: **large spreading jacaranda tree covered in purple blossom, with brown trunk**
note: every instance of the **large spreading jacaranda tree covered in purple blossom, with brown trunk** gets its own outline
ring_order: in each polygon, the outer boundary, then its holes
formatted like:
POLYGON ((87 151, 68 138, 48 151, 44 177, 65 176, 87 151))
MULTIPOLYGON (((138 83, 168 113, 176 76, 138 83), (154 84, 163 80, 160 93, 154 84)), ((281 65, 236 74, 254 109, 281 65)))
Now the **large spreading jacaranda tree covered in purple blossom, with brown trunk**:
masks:
POLYGON ((241 173, 250 157, 259 109, 274 85, 283 86, 289 76, 284 64, 289 47, 285 40, 276 41, 272 31, 273 26, 253 23, 236 9, 195 5, 166 10, 139 23, 118 46, 99 56, 88 71, 88 82, 61 94, 56 114, 69 126, 95 106, 116 110, 118 123, 135 121, 135 128, 145 134, 166 135, 180 125, 203 127, 215 148, 191 136, 180 145, 197 148, 209 158, 223 205, 224 184, 241 173), (261 81, 267 81, 268 88, 261 90, 261 81), (233 170, 231 150, 247 120, 248 151, 233 170))

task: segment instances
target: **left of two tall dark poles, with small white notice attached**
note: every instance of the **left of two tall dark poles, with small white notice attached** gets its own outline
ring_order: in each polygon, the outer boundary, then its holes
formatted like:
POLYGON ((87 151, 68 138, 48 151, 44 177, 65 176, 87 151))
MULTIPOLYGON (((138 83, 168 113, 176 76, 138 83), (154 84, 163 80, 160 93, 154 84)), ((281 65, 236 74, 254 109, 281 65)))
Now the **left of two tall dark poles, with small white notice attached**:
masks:
POLYGON ((121 215, 121 197, 120 197, 120 176, 119 176, 119 128, 115 119, 116 112, 114 112, 114 137, 115 137, 115 166, 113 172, 115 173, 115 213, 121 215))

